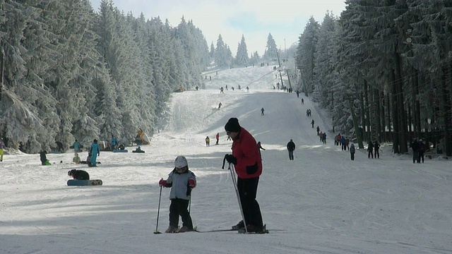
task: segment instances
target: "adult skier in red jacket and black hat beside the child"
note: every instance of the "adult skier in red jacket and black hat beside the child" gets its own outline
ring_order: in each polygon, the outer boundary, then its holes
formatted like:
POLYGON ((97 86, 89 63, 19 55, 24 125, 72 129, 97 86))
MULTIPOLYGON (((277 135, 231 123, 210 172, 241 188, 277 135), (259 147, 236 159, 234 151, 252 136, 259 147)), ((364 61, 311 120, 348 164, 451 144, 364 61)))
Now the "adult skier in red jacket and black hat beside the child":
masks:
POLYGON ((245 225, 242 220, 232 229, 244 229, 246 226, 249 232, 263 231, 261 208, 256 200, 259 176, 262 174, 261 153, 251 133, 239 125, 239 119, 229 119, 225 131, 232 138, 232 155, 225 158, 234 164, 237 173, 237 191, 246 222, 245 225))

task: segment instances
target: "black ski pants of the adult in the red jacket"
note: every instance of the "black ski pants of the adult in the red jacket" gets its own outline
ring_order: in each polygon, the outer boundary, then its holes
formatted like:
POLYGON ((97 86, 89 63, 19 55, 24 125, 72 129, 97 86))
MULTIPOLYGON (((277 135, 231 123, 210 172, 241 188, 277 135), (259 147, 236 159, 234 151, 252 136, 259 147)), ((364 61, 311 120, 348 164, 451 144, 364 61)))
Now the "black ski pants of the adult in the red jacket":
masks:
POLYGON ((237 191, 239 191, 246 224, 263 227, 261 207, 256 200, 258 183, 259 177, 252 179, 237 177, 237 191))

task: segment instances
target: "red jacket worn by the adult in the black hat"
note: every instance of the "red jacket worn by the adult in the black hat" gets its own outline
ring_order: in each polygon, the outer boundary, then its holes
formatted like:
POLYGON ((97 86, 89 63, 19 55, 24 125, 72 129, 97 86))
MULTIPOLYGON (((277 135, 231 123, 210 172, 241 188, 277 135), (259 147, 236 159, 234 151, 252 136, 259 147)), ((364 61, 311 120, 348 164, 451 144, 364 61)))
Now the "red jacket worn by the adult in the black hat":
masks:
POLYGON ((232 155, 237 158, 235 171, 241 179, 251 179, 262 174, 262 159, 256 140, 244 128, 232 140, 232 155))

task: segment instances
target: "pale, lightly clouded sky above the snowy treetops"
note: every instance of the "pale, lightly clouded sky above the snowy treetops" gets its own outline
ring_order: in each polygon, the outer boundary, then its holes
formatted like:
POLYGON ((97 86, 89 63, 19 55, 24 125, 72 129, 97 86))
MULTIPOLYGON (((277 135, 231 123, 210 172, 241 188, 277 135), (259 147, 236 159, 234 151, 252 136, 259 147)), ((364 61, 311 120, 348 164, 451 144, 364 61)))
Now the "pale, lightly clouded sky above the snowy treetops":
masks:
MULTIPOLYGON (((208 47, 216 47, 218 35, 237 53, 237 45, 245 37, 248 53, 262 56, 268 34, 271 33, 280 49, 288 49, 297 43, 299 35, 311 16, 321 23, 327 11, 335 16, 345 10, 344 0, 114 0, 114 6, 125 13, 131 11, 138 17, 160 16, 170 25, 177 26, 182 16, 193 20, 206 37, 208 47)), ((99 11, 100 0, 91 0, 99 11)))

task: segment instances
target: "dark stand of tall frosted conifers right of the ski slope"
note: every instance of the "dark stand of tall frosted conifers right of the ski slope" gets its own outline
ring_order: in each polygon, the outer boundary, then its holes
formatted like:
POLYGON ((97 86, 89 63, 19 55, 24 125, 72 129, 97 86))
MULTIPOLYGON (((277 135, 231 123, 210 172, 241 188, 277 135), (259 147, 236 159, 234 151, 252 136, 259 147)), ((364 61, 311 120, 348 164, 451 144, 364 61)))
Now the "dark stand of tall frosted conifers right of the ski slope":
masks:
POLYGON ((345 4, 300 35, 298 89, 331 112, 333 131, 392 140, 398 154, 423 138, 452 156, 452 1, 345 4))

